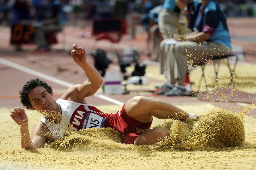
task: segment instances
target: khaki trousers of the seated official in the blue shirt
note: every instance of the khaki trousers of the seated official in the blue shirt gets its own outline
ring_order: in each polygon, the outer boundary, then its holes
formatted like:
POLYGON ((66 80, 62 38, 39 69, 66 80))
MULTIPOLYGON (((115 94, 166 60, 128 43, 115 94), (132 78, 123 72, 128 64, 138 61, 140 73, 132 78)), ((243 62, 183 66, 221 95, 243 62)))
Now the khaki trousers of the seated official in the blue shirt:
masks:
POLYGON ((183 84, 188 71, 188 64, 192 62, 205 62, 210 56, 223 56, 231 52, 231 49, 213 41, 202 43, 184 41, 175 45, 166 44, 173 39, 164 39, 160 43, 160 73, 171 84, 179 79, 183 84))

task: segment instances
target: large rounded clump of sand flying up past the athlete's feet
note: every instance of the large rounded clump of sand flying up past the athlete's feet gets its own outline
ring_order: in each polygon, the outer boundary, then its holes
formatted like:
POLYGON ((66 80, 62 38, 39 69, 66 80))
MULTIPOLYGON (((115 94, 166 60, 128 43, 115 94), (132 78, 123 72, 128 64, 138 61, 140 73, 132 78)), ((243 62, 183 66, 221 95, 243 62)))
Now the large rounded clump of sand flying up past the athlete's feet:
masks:
POLYGON ((215 109, 207 112, 194 124, 194 136, 215 147, 238 146, 245 140, 242 120, 232 112, 215 109))

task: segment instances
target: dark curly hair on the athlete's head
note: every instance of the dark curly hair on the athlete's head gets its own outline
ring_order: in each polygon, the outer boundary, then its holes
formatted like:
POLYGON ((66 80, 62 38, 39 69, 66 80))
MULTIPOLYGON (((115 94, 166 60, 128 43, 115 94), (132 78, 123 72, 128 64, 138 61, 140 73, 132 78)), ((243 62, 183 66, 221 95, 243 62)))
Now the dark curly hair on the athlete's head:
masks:
POLYGON ((19 92, 20 103, 23 104, 23 106, 27 109, 29 109, 29 105, 31 106, 31 103, 29 102, 28 98, 28 93, 31 92, 31 90, 35 89, 37 86, 42 86, 48 91, 48 93, 52 93, 52 87, 49 86, 44 80, 39 80, 38 78, 36 78, 27 81, 24 84, 22 90, 19 92))

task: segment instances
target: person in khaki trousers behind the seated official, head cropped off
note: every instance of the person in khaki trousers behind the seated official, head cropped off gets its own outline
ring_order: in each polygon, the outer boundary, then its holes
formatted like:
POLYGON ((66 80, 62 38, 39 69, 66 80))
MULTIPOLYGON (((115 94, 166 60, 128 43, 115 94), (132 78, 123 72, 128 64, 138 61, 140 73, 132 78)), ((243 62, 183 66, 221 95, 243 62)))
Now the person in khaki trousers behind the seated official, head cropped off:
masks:
POLYGON ((161 73, 165 75, 167 82, 156 91, 157 95, 164 95, 164 93, 171 90, 168 85, 170 84, 169 74, 172 66, 166 60, 168 54, 161 54, 169 48, 169 46, 165 46, 165 41, 173 38, 174 35, 187 35, 191 32, 185 16, 187 5, 188 0, 164 0, 163 9, 158 15, 158 28, 164 41, 159 44, 159 53, 152 58, 156 60, 158 57, 161 73))

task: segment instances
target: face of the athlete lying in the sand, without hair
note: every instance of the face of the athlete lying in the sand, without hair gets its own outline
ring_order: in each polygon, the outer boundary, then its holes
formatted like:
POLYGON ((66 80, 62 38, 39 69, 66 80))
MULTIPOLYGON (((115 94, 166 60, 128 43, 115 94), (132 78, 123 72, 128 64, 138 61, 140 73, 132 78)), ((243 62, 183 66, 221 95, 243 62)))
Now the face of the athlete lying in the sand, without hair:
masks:
POLYGON ((37 86, 28 93, 29 102, 31 103, 29 109, 37 110, 40 113, 56 110, 58 104, 52 96, 53 93, 50 94, 44 87, 37 86))

